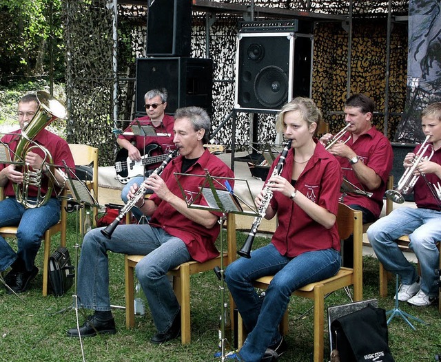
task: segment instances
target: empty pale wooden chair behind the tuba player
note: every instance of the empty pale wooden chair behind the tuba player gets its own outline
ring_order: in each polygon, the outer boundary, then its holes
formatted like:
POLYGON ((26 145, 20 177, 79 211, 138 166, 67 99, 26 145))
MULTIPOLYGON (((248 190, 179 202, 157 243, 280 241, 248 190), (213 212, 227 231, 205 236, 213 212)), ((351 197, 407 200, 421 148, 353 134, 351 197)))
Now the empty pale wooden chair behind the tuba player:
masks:
MULTIPOLYGON (((74 162, 76 166, 90 166, 92 165, 93 176, 92 181, 85 181, 86 186, 90 191, 95 200, 98 200, 98 149, 88 145, 79 145, 76 143, 69 144, 70 152, 74 157, 74 162)), ((81 215, 83 210, 80 209, 80 220, 83 220, 81 215)), ((93 210, 93 226, 96 226, 96 215, 98 214, 98 209, 94 207, 93 210)), ((83 226, 80 225, 80 233, 83 233, 83 226)))

